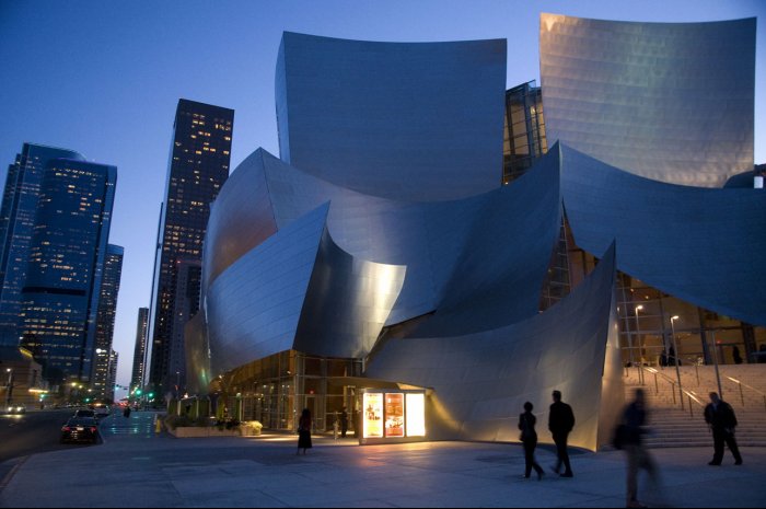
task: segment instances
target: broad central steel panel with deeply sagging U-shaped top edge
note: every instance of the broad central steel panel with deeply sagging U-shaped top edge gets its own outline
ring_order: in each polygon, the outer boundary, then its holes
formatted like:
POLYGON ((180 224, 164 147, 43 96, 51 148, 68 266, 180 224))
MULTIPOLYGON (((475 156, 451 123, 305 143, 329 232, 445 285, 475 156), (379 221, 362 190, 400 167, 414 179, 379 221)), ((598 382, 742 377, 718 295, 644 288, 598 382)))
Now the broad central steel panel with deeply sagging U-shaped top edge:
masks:
MULTIPOLYGON (((403 204, 344 189, 264 155, 274 213, 281 228, 330 200, 328 229, 351 255, 407 266, 387 324, 443 309, 453 333, 491 328, 495 312, 522 320, 537 312, 542 280, 560 224, 559 154, 552 151, 511 186, 463 200, 403 204), (525 247, 519 248, 520 239, 525 247), (476 250, 476 244, 484 246, 476 250), (523 294, 524 298, 519 298, 523 294), (479 298, 481 297, 481 298, 479 298), (467 328, 466 328, 467 327, 467 328)), ((425 329, 422 334, 429 334, 425 329)))

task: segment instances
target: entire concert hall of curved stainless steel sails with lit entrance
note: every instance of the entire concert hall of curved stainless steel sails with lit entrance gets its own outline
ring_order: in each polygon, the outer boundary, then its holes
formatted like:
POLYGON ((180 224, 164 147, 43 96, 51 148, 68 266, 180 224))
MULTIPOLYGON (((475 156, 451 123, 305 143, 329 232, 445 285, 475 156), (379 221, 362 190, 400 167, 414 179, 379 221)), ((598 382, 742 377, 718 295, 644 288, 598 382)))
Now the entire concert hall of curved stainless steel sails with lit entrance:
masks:
POLYGON ((346 408, 380 443, 514 441, 523 403, 545 415, 559 390, 570 443, 595 450, 628 356, 668 350, 668 312, 696 320, 678 355, 710 354, 700 316, 766 343, 755 20, 543 14, 539 54, 517 101, 504 39, 285 33, 280 153, 212 205, 189 392, 274 429, 346 408))

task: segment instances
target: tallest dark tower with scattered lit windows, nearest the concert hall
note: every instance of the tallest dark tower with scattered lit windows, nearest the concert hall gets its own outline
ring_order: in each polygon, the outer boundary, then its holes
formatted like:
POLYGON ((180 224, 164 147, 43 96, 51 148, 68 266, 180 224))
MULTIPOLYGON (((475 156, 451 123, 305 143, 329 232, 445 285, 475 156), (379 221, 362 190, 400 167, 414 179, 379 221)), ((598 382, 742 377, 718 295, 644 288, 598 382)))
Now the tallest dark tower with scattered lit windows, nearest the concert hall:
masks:
POLYGON ((178 296, 179 268, 201 261, 210 204, 229 177, 233 126, 233 109, 178 101, 152 288, 149 383, 158 394, 172 391, 185 372, 183 363, 171 366, 190 317, 176 315, 184 298, 178 296))

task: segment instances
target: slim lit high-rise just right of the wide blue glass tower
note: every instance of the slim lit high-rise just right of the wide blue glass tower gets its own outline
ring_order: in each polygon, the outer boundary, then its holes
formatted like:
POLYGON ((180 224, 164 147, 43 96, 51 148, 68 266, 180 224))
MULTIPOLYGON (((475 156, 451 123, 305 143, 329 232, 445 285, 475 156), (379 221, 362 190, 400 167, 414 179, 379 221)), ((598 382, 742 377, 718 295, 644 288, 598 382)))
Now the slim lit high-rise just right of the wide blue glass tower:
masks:
POLYGON ((95 356, 93 358, 93 374, 91 387, 93 395, 103 400, 112 400, 114 384, 108 383, 111 369, 111 351, 114 339, 115 314, 117 311, 117 296, 119 281, 123 274, 123 256, 125 250, 118 245, 109 244, 106 248, 106 261, 101 282, 101 300, 98 301, 98 315, 96 319, 95 356))

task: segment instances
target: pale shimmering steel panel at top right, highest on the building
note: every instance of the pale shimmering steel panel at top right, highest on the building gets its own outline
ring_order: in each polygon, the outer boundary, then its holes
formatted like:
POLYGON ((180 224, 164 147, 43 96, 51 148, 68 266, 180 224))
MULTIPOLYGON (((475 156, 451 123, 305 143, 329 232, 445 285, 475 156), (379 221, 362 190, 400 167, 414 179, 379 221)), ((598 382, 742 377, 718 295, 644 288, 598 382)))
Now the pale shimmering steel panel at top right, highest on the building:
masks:
POLYGON ((755 18, 542 14, 539 51, 549 141, 687 186, 721 187, 753 169, 755 18))

